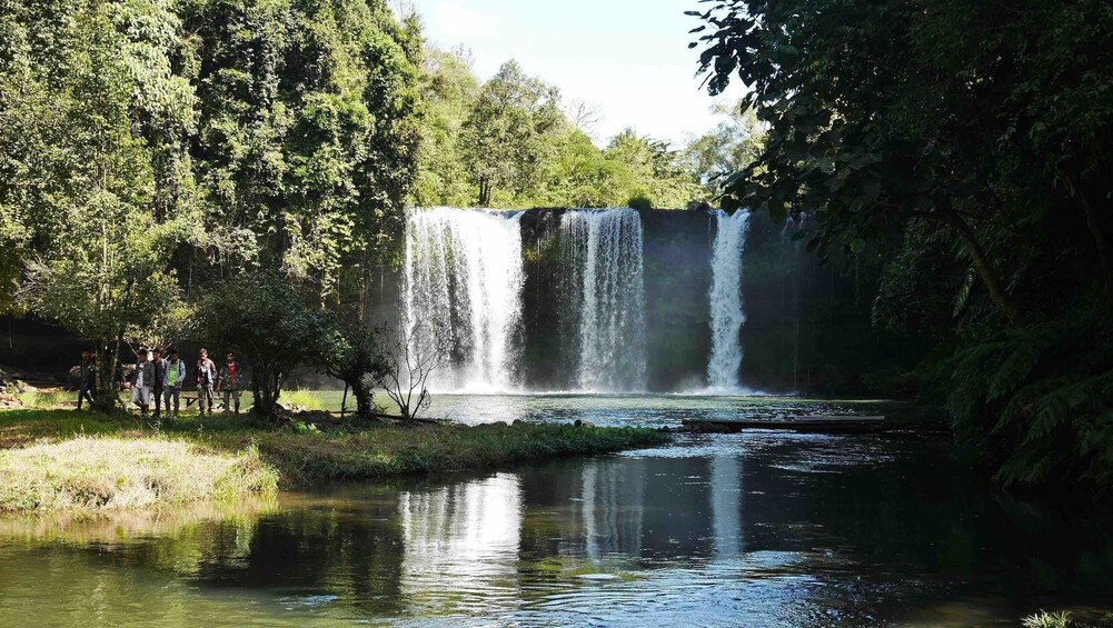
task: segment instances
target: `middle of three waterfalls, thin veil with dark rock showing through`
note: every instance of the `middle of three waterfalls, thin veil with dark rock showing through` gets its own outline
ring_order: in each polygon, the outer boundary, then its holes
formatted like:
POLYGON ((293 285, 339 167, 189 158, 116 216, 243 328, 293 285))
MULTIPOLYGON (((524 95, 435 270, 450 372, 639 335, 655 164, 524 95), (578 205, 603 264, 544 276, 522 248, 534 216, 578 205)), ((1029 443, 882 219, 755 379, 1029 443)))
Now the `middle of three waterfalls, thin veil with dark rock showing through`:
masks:
POLYGON ((564 308, 575 385, 583 391, 646 389, 646 282, 636 209, 577 209, 560 225, 569 281, 564 308))

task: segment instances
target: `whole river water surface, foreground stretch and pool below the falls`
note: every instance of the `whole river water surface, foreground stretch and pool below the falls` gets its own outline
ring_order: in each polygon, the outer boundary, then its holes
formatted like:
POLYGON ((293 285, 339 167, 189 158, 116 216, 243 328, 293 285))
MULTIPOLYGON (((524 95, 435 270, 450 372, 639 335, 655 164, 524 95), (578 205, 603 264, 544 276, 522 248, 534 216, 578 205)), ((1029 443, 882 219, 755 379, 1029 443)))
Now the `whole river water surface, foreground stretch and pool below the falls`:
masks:
MULTIPOLYGON (((623 399, 471 403, 485 420, 647 424, 861 410, 623 399)), ((0 520, 0 624, 1015 625, 1113 600, 1111 522, 991 490, 938 436, 681 435, 234 509, 0 520)))

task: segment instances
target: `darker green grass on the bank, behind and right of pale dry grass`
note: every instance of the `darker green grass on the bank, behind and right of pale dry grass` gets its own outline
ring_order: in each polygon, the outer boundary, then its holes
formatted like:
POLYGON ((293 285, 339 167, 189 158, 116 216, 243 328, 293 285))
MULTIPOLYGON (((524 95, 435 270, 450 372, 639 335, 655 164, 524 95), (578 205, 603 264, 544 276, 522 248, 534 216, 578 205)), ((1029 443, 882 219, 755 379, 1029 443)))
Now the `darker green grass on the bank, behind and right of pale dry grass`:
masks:
MULTIPOLYGON (((129 441, 149 439, 151 434, 150 428, 128 415, 63 410, 0 412, 0 450, 83 436, 129 441)), ((164 424, 158 439, 217 455, 243 455, 254 448, 264 464, 278 471, 283 485, 295 487, 329 480, 487 470, 651 447, 668 442, 669 436, 650 429, 541 423, 475 428, 348 424, 297 433, 245 418, 186 415, 173 425, 164 424)))

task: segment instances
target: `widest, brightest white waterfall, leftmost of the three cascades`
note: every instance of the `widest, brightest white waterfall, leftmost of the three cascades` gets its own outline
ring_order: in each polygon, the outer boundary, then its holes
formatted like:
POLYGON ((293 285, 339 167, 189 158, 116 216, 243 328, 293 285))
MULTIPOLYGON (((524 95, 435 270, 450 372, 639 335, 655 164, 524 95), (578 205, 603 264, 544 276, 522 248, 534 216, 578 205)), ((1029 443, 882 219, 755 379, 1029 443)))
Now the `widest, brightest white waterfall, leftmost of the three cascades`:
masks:
POLYGON ((412 338, 443 334, 452 359, 430 387, 513 387, 524 284, 519 216, 435 207, 407 218, 404 324, 412 338))

